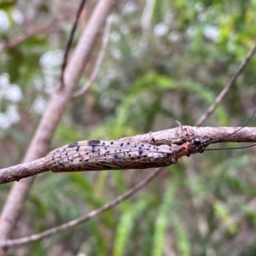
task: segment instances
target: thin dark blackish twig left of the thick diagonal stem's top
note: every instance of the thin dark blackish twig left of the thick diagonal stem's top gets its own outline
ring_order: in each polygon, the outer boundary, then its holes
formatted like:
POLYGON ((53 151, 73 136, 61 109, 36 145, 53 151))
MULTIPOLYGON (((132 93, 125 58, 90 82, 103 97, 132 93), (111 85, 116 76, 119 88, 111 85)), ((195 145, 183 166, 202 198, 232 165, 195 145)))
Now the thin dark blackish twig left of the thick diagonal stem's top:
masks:
POLYGON ((85 2, 86 2, 86 0, 82 0, 80 5, 79 5, 79 10, 78 10, 78 13, 76 15, 76 20, 73 23, 73 27, 72 27, 72 30, 70 32, 70 36, 69 36, 68 41, 67 41, 67 46, 66 46, 65 54, 64 54, 64 57, 63 57, 62 65, 61 65, 61 84, 60 84, 60 89, 63 89, 65 87, 65 84, 64 84, 64 72, 65 72, 65 69, 67 67, 67 58, 68 58, 68 54, 70 52, 71 45, 72 45, 72 42, 73 42, 74 33, 75 33, 75 31, 77 29, 77 26, 78 26, 79 17, 80 17, 80 15, 82 13, 82 10, 84 9, 85 2))

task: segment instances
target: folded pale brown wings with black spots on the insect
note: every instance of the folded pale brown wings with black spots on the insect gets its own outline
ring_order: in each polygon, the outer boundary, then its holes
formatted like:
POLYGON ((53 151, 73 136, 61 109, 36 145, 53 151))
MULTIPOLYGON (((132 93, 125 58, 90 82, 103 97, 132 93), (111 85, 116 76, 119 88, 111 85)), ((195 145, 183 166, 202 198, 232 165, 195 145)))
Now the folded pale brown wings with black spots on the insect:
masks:
POLYGON ((90 140, 55 149, 45 163, 52 172, 144 169, 175 164, 181 152, 183 146, 90 140))

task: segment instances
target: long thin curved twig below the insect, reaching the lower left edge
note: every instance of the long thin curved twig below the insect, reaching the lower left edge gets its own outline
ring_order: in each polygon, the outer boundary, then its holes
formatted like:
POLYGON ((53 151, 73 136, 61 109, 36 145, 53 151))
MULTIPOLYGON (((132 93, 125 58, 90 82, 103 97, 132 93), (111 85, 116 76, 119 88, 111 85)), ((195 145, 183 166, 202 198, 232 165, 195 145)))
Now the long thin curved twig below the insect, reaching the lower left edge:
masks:
POLYGON ((18 238, 18 239, 0 240, 0 247, 13 247, 15 245, 21 245, 21 244, 26 244, 26 243, 32 242, 32 241, 38 241, 45 237, 54 235, 57 232, 60 232, 62 230, 70 229, 78 224, 83 223, 84 221, 89 220, 90 218, 94 218, 94 217, 96 217, 96 215, 99 215, 102 212, 105 212, 105 211, 115 207, 120 202, 125 201, 126 199, 131 197, 131 195, 134 195, 138 190, 143 189, 143 187, 145 187, 152 179, 154 179, 154 177, 159 175, 160 172, 162 172, 164 169, 165 168, 163 168, 163 167, 155 169, 147 177, 145 177, 141 182, 137 183, 137 185, 135 185, 133 188, 129 189, 124 195, 119 195, 113 201, 108 202, 104 206, 102 206, 94 211, 91 211, 88 214, 86 214, 80 218, 73 219, 65 224, 61 224, 58 227, 55 227, 55 228, 52 228, 49 230, 45 230, 44 232, 36 234, 36 235, 25 236, 25 237, 18 238))

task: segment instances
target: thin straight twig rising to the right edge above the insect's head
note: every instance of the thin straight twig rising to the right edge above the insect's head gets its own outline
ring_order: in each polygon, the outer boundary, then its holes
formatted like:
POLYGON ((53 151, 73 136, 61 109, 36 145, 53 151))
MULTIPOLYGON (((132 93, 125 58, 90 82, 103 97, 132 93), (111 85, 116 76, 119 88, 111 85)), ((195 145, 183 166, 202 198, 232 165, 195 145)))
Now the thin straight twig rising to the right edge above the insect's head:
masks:
POLYGON ((253 48, 249 50, 247 53, 246 58, 241 62, 240 67, 238 68, 237 72, 234 74, 234 76, 230 79, 230 82, 224 86, 224 89, 220 92, 218 97, 216 98, 215 102, 210 106, 207 111, 201 116, 200 119, 198 119, 195 123, 195 126, 201 126, 203 122, 213 113, 213 111, 218 107, 218 104, 223 100, 224 96, 228 93, 231 86, 235 84, 236 79, 239 77, 239 75, 242 73, 242 71, 247 66, 247 63, 250 61, 250 59, 253 57, 253 54, 256 50, 256 44, 254 44, 253 48))

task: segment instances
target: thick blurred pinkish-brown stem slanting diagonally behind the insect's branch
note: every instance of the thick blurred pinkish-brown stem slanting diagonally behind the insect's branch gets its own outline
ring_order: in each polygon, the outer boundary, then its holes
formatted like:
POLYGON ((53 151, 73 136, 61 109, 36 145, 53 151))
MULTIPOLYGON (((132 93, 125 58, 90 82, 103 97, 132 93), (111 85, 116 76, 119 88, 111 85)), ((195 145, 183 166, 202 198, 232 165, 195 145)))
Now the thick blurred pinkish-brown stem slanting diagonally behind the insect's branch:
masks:
MULTIPOLYGON (((38 125, 38 130, 27 150, 24 161, 29 162, 38 159, 46 153, 56 125, 59 123, 65 108, 67 108, 67 104, 73 96, 73 90, 79 82, 86 62, 90 58, 90 53, 96 45, 97 34, 102 29, 115 2, 114 0, 98 1, 67 65, 64 74, 65 90, 55 90, 55 93, 51 96, 48 107, 45 109, 44 117, 38 125)), ((7 238, 12 236, 33 180, 34 177, 22 179, 19 183, 15 183, 11 189, 0 217, 0 237, 7 238)), ((4 254, 5 252, 0 250, 0 255, 4 254)))

